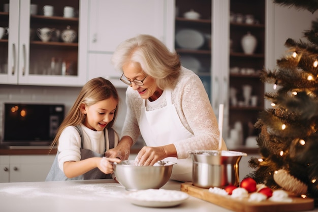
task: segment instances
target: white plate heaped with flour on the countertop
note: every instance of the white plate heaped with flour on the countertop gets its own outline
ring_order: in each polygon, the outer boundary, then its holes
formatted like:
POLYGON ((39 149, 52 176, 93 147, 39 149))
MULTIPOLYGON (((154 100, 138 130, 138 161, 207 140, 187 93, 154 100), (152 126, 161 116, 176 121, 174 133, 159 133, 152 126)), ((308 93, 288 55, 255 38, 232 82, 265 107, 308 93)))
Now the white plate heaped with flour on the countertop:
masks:
POLYGON ((144 207, 172 207, 184 202, 189 195, 174 190, 146 189, 126 194, 132 204, 144 207))

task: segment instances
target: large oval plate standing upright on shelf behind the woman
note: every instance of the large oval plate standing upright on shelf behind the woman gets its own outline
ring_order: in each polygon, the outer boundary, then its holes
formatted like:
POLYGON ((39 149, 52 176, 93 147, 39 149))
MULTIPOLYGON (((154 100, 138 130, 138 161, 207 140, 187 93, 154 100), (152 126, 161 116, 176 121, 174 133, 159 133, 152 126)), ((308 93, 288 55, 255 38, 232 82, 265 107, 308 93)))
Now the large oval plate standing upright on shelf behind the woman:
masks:
POLYGON ((204 44, 204 35, 195 29, 180 29, 176 34, 176 43, 181 48, 198 49, 204 44))

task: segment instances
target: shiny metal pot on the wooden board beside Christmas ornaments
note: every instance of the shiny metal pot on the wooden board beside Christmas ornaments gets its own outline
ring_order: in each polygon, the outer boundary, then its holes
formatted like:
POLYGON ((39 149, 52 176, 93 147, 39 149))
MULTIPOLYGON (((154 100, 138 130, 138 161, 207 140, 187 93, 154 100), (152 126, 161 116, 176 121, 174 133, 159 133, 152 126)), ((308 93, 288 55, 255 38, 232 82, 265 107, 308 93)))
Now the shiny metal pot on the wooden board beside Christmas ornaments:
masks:
POLYGON ((239 185, 239 162, 246 153, 222 150, 197 150, 191 152, 193 160, 192 183, 202 188, 239 185))

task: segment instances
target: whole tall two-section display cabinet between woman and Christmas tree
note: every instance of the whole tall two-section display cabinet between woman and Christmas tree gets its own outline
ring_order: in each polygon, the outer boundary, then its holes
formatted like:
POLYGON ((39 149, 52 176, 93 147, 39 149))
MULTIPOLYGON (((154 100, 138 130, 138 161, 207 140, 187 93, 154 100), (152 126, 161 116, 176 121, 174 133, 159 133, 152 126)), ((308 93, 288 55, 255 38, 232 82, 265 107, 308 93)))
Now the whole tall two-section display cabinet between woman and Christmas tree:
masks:
POLYGON ((229 147, 256 136, 253 124, 264 108, 265 0, 176 0, 175 48, 182 66, 201 78, 217 116, 224 105, 229 147))

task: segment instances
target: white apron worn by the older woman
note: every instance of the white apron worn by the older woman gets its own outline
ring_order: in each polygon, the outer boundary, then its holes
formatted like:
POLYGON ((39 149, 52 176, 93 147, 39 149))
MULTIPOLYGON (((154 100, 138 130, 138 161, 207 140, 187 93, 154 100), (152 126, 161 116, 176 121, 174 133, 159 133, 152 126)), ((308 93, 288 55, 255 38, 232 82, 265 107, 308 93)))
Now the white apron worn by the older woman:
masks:
MULTIPOLYGON (((165 90, 167 106, 146 111, 146 101, 140 108, 139 129, 147 146, 163 146, 194 135, 184 128, 177 111, 172 104, 171 90, 165 90)), ((163 95, 164 95, 163 93, 163 95)), ((177 163, 173 165, 171 179, 192 181, 192 159, 165 158, 165 161, 177 163)))

